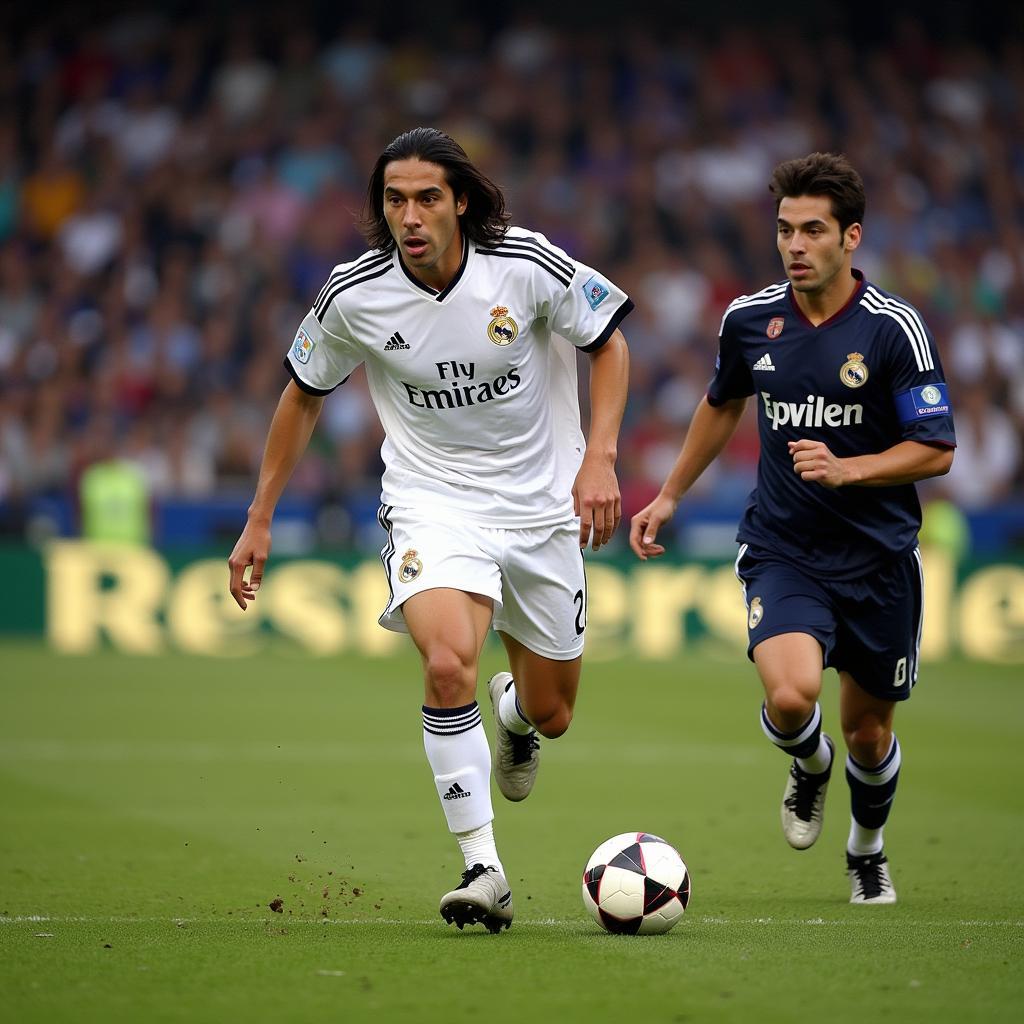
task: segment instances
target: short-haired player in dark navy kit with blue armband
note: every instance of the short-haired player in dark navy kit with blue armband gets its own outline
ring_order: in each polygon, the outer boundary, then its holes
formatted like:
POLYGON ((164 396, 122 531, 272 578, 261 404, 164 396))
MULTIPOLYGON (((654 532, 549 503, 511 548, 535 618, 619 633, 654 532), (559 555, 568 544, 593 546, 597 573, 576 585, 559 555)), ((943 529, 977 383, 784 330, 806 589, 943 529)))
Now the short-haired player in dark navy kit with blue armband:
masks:
POLYGON ((752 395, 761 457, 739 524, 736 572, 761 724, 793 764, 782 800, 791 846, 821 831, 835 744, 821 674, 840 677, 852 820, 852 903, 895 903, 883 826, 899 778, 896 705, 918 679, 923 579, 913 483, 946 473, 955 437, 935 342, 920 313, 853 268, 864 188, 844 157, 775 168, 785 282, 725 311, 719 359, 675 466, 638 512, 630 544, 665 552, 658 528, 725 446, 752 395))

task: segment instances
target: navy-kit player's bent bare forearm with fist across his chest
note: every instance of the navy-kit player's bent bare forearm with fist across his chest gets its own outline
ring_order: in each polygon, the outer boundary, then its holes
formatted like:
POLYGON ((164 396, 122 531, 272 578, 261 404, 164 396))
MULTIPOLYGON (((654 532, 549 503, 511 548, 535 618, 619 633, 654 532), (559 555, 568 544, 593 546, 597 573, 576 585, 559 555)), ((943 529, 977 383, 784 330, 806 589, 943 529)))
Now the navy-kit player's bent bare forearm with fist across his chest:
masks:
POLYGON ((892 487, 942 476, 953 463, 953 450, 922 441, 900 441, 877 455, 838 459, 822 441, 790 441, 794 472, 802 480, 835 487, 892 487))

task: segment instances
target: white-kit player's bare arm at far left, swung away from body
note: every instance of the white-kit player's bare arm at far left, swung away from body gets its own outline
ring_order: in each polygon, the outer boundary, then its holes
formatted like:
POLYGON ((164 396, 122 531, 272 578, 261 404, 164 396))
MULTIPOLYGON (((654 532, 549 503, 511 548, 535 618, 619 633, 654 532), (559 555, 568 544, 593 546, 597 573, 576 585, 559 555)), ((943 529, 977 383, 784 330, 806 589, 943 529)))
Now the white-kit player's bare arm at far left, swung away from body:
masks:
POLYGON ((324 395, 307 394, 289 381, 281 394, 270 422, 260 464, 256 495, 249 506, 249 518, 227 564, 231 570, 231 597, 243 611, 256 599, 263 580, 263 566, 270 555, 270 522, 285 484, 305 452, 324 406, 324 395), (253 567, 249 580, 247 566, 253 567))

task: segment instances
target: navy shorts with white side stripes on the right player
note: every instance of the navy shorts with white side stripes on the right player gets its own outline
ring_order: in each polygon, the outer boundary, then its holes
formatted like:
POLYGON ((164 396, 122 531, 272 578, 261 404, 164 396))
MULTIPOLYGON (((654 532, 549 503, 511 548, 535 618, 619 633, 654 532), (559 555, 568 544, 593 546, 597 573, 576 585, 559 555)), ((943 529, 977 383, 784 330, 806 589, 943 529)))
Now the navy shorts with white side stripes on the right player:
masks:
POLYGON ((883 700, 905 700, 918 681, 924 612, 921 552, 914 548, 859 580, 818 580, 749 545, 736 575, 746 602, 746 654, 781 633, 808 633, 826 669, 848 672, 883 700))

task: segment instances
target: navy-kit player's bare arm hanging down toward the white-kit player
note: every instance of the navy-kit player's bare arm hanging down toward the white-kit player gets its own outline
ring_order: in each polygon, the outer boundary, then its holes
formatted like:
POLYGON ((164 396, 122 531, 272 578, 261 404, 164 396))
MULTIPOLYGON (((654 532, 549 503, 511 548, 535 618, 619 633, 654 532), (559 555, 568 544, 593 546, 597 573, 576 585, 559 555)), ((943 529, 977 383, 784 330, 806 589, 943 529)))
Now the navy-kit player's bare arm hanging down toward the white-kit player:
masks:
POLYGON ((646 561, 665 554, 665 548, 655 543, 658 529, 675 515, 683 495, 729 442, 745 408, 746 398, 730 398, 719 406, 712 406, 707 395, 700 399, 683 447, 660 492, 630 524, 630 547, 637 557, 646 561))

